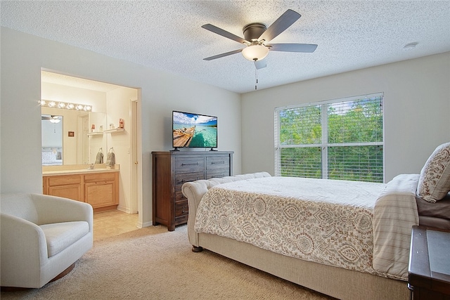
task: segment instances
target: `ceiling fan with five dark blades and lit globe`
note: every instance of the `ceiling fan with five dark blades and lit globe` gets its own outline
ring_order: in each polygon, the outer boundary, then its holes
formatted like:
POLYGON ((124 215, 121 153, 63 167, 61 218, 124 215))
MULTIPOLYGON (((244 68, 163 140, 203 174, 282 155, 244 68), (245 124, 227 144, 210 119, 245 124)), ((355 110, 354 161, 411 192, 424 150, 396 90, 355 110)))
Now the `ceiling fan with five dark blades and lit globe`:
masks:
POLYGON ((243 27, 244 39, 238 37, 231 32, 227 32, 219 27, 211 24, 205 24, 202 28, 237 41, 238 43, 245 44, 245 48, 229 51, 226 53, 218 54, 217 56, 210 56, 209 58, 203 58, 204 60, 214 60, 216 58, 223 58, 224 56, 231 56, 232 54, 242 53, 243 56, 251 61, 255 62, 257 69, 262 69, 266 67, 264 58, 267 56, 269 51, 284 51, 284 52, 303 52, 311 53, 317 48, 316 44, 268 44, 269 41, 274 39, 293 25, 295 21, 300 19, 300 13, 288 9, 283 15, 281 15, 269 28, 263 23, 254 22, 243 27))

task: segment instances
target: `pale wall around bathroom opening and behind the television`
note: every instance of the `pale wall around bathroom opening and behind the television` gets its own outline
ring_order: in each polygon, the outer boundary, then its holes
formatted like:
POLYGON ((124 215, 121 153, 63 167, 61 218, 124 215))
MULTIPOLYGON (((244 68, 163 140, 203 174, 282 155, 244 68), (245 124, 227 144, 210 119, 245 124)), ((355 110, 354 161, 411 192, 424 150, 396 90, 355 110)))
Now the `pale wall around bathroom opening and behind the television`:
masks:
POLYGON ((237 93, 1 27, 1 193, 42 191, 41 68, 141 88, 143 226, 151 224, 150 152, 172 149, 172 110, 217 115, 218 150, 234 151, 233 171, 240 173, 237 93))

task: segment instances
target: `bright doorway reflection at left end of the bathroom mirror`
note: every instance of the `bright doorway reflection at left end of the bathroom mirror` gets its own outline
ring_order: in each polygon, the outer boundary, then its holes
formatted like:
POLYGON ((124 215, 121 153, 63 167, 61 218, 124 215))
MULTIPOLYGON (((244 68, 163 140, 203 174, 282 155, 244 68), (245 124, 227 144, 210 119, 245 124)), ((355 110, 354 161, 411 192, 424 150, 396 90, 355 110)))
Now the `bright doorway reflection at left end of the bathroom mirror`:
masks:
POLYGON ((41 115, 42 165, 63 164, 63 116, 41 115))

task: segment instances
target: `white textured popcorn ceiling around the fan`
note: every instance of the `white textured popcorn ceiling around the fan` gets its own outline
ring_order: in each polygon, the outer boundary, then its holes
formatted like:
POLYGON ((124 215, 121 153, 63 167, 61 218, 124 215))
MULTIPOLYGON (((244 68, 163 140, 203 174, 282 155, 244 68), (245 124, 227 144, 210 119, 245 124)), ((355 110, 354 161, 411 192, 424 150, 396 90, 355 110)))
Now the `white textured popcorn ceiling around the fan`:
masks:
POLYGON ((255 90, 252 62, 203 60, 243 45, 201 25, 243 37, 244 25, 269 26, 288 8, 302 18, 271 42, 319 46, 269 52, 258 89, 450 51, 450 1, 2 0, 1 25, 245 93, 255 90))

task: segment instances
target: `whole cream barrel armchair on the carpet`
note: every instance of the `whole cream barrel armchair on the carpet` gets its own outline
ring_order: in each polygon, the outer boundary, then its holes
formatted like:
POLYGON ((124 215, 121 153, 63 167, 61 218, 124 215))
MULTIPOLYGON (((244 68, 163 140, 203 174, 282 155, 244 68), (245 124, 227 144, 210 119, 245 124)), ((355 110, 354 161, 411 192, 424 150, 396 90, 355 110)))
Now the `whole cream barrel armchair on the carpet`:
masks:
POLYGON ((69 273, 92 247, 90 204, 10 194, 1 195, 0 213, 1 287, 43 287, 69 273))

